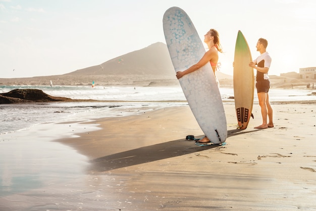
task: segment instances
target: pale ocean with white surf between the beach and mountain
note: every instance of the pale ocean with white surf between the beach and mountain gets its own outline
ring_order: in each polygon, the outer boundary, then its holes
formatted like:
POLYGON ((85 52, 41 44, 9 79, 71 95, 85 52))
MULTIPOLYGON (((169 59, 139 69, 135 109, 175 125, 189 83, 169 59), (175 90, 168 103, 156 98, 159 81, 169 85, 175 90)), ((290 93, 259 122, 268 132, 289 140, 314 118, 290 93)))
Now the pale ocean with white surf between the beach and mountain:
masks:
MULTIPOLYGON (((0 134, 26 130, 36 124, 91 120, 141 114, 170 106, 187 105, 180 86, 174 87, 101 87, 88 86, 0 86, 0 93, 14 89, 39 89, 44 93, 71 99, 93 99, 100 102, 50 102, 0 105, 0 134), (106 101, 106 102, 104 102, 106 101)), ((224 103, 234 103, 231 88, 220 88, 224 103)), ((316 100, 311 90, 271 89, 270 101, 316 100)), ((257 103, 256 94, 254 103, 257 103)))

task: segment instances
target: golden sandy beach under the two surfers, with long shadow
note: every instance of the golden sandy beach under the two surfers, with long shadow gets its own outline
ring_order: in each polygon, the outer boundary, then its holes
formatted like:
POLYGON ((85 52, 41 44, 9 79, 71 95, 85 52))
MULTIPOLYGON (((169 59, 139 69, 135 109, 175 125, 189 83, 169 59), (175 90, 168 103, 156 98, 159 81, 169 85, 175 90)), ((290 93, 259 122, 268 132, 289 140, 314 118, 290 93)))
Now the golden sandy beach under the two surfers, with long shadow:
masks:
POLYGON ((96 119, 57 140, 87 157, 84 174, 1 197, 0 210, 316 210, 314 105, 274 103, 275 127, 258 130, 255 104, 240 131, 224 104, 226 145, 204 147, 185 140, 203 135, 188 106, 96 119))

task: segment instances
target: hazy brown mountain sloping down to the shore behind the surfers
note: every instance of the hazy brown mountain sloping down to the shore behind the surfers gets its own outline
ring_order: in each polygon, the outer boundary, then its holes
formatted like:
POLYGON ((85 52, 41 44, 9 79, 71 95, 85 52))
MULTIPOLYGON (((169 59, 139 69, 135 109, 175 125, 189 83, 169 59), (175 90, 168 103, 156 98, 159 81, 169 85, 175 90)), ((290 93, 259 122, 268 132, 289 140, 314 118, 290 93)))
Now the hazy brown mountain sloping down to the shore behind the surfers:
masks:
MULTIPOLYGON (((222 83, 232 85, 232 76, 217 73, 222 83)), ((30 78, 0 78, 0 85, 179 85, 167 45, 155 43, 146 48, 116 57, 99 65, 86 67, 63 75, 30 78)), ((223 84, 223 85, 224 85, 223 84)))

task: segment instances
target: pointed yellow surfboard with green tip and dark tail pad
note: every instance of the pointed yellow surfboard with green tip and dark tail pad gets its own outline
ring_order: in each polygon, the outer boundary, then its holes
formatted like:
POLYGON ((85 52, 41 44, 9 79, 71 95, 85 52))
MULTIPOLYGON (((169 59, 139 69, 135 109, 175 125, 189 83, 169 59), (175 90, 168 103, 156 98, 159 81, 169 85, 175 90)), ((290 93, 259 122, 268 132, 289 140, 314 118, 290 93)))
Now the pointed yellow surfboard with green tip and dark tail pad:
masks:
POLYGON ((238 31, 234 57, 234 98, 240 129, 246 129, 252 116, 254 75, 249 46, 244 35, 238 31))

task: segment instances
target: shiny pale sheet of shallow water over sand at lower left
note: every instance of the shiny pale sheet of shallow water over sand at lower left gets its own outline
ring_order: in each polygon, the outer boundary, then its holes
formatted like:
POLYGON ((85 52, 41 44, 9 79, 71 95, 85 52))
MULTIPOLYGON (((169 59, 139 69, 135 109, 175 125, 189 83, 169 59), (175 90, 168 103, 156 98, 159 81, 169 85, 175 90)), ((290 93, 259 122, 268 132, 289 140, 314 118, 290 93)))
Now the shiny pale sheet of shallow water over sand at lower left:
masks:
POLYGON ((93 185, 97 178, 87 173, 88 159, 53 141, 75 138, 78 130, 96 127, 48 123, 0 135, 0 210, 77 210, 83 201, 98 199, 93 185))

